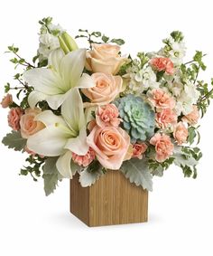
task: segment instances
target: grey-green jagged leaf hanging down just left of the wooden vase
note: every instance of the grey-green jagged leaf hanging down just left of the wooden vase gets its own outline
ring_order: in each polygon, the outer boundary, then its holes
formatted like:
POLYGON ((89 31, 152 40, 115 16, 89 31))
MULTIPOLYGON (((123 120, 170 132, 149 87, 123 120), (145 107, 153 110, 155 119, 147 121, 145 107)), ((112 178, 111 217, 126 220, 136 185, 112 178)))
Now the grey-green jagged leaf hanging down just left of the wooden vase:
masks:
POLYGON ((45 163, 42 167, 43 175, 42 178, 44 180, 44 191, 45 194, 48 196, 49 194, 53 193, 58 185, 58 181, 62 178, 58 172, 56 167, 56 162, 59 157, 48 157, 45 160, 45 163))

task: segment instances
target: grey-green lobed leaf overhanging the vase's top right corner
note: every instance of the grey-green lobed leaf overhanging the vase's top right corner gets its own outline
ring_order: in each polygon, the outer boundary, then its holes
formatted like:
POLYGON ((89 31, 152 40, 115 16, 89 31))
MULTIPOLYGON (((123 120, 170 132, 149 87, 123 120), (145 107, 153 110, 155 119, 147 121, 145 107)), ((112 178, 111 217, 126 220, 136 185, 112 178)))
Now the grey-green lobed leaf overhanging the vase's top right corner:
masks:
POLYGON ((121 172, 135 185, 142 185, 144 189, 153 190, 153 175, 149 170, 148 159, 132 158, 121 166, 121 172))

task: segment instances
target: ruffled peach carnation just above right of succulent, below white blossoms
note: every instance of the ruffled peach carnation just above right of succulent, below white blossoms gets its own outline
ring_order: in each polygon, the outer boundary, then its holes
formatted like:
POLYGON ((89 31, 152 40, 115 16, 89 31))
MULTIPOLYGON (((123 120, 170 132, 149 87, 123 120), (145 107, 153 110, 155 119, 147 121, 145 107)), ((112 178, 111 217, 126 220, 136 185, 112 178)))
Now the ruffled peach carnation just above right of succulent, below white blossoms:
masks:
POLYGON ((162 89, 153 89, 149 93, 149 100, 157 109, 173 109, 175 100, 162 89))

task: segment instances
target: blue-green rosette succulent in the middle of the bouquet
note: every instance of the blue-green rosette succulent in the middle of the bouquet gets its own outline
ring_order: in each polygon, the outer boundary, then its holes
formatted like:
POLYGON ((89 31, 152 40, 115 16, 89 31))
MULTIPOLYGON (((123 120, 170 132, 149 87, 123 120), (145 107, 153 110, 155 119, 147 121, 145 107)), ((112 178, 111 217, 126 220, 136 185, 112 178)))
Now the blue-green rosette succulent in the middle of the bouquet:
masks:
POLYGON ((153 136, 154 111, 151 106, 140 97, 132 94, 115 102, 119 110, 122 126, 131 137, 131 142, 145 141, 153 136))

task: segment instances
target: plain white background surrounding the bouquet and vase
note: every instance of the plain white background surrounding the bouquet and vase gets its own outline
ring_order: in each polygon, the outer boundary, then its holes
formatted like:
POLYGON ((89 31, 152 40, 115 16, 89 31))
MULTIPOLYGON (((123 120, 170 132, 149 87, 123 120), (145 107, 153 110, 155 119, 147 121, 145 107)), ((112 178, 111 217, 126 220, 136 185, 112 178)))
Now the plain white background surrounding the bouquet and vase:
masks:
MULTIPOLYGON (((185 34, 188 56, 208 53, 213 77, 211 1, 1 1, 0 95, 11 81, 13 64, 3 54, 7 45, 20 47, 29 60, 38 46, 37 21, 53 16, 55 23, 75 34, 79 28, 124 38, 123 52, 153 51, 172 30, 185 34)), ((197 180, 184 179, 171 168, 154 178, 149 222, 88 228, 69 213, 69 181, 45 197, 42 180, 19 176, 23 156, 3 145, 0 168, 0 255, 213 255, 212 112, 201 121, 203 158, 197 180)), ((1 109, 0 137, 9 131, 7 110, 1 109)))

